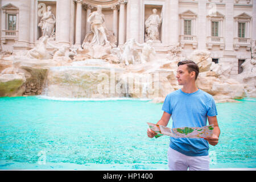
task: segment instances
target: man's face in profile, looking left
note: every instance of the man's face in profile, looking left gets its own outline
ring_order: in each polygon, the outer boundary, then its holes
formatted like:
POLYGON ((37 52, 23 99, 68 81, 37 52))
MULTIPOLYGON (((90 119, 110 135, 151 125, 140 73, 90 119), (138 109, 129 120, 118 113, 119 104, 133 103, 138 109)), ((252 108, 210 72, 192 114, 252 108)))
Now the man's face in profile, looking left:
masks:
POLYGON ((195 78, 193 77, 195 77, 195 72, 189 73, 186 64, 179 65, 179 67, 177 68, 177 75, 176 75, 179 85, 186 85, 189 82, 195 80, 195 78))

